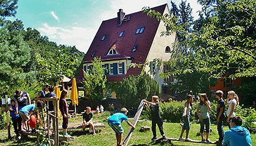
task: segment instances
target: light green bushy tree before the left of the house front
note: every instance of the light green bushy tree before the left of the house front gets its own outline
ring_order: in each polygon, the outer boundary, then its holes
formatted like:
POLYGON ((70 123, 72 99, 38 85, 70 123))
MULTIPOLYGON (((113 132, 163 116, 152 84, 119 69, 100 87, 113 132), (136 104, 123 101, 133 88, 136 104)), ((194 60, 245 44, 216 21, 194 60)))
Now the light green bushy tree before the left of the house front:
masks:
POLYGON ((105 68, 102 68, 100 58, 94 58, 92 63, 93 66, 91 66, 90 70, 84 70, 83 84, 85 93, 93 100, 102 100, 104 99, 103 91, 107 82, 105 68))

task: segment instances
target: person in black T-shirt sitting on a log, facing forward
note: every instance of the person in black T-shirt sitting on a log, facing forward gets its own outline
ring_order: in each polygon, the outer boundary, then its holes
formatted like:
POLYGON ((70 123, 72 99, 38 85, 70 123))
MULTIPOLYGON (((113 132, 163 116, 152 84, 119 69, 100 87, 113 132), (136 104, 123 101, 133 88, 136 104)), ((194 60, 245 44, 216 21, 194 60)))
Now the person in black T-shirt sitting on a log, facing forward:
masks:
POLYGON ((94 125, 93 125, 93 113, 91 112, 91 107, 86 107, 85 113, 83 113, 83 131, 85 128, 90 127, 93 130, 93 136, 96 135, 94 125))

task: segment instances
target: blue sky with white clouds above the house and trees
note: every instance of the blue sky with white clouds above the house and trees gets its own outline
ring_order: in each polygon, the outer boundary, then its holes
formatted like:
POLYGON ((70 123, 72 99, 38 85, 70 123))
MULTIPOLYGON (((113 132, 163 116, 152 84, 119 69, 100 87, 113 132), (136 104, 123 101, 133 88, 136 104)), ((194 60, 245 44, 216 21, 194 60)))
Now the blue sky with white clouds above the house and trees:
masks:
MULTIPOLYGON (((176 5, 181 0, 172 0, 176 5)), ((198 18, 201 5, 196 0, 187 0, 198 18)), ((15 18, 23 21, 24 27, 38 30, 57 44, 75 45, 84 53, 96 35, 102 21, 116 18, 119 8, 126 15, 141 11, 143 7, 157 7, 171 0, 19 0, 15 18)))

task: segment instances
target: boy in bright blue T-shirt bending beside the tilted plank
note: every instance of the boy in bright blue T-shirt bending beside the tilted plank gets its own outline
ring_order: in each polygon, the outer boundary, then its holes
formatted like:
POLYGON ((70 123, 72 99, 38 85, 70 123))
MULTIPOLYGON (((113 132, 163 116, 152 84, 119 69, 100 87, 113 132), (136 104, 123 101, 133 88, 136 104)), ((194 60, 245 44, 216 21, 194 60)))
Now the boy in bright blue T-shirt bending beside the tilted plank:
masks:
POLYGON ((121 125, 123 121, 126 121, 130 127, 135 129, 135 126, 132 125, 128 121, 128 118, 126 114, 128 113, 128 110, 126 108, 121 108, 121 113, 115 113, 110 118, 108 118, 108 125, 115 131, 116 133, 116 146, 123 146, 122 144, 122 138, 124 135, 124 129, 121 125))

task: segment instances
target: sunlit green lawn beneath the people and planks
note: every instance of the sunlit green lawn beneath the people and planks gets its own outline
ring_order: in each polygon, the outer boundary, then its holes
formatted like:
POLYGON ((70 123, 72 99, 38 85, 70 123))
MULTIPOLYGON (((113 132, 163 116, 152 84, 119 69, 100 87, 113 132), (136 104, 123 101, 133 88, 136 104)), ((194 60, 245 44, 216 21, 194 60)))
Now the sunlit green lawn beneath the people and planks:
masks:
MULTIPOLYGON (((74 141, 69 142, 61 142, 61 145, 116 145, 116 139, 115 139, 115 133, 114 131, 108 126, 107 124, 107 117, 109 116, 108 112, 105 112, 102 114, 102 116, 94 116, 94 120, 97 122, 102 122, 105 124, 105 128, 96 128, 96 131, 98 133, 96 136, 92 136, 88 133, 82 133, 81 130, 68 130, 68 133, 74 137, 74 141)), ((81 122, 82 116, 78 116, 77 118, 71 118, 69 119, 69 123, 72 122, 81 122)), ((59 121, 59 124, 61 125, 62 120, 59 121)), ((123 122, 123 128, 124 128, 124 138, 126 136, 126 132, 129 130, 129 125, 126 124, 126 122, 123 122)), ((132 137, 130 138, 128 145, 207 145, 207 144, 194 144, 190 142, 180 142, 180 141, 171 141, 169 142, 163 142, 163 143, 155 143, 151 141, 152 138, 152 132, 151 131, 145 131, 140 132, 140 127, 148 125, 151 127, 151 121, 143 121, 138 122, 136 125, 135 130, 133 131, 132 137)), ((169 138, 179 138, 180 130, 182 127, 180 127, 179 123, 164 123, 163 129, 165 131, 165 134, 169 138)), ((199 134, 199 124, 191 124, 191 130, 190 130, 190 138, 194 140, 200 140, 200 134, 199 134)), ((216 141, 218 138, 218 131, 216 125, 211 125, 212 133, 210 133, 210 139, 212 141, 216 141)), ((228 127, 224 127, 224 131, 226 131, 228 127)), ((157 129, 157 134, 160 136, 160 133, 157 129)), ((13 134, 13 128, 12 128, 12 136, 15 136, 13 134)), ((185 135, 184 135, 185 136, 185 135)), ((252 136, 252 145, 256 145, 256 134, 251 134, 252 136)), ((34 137, 24 138, 21 139, 21 141, 11 140, 7 141, 7 130, 0 130, 0 145, 36 145, 36 139, 34 137)))

